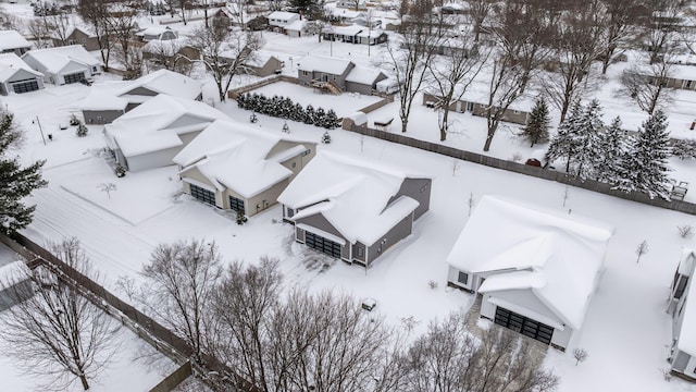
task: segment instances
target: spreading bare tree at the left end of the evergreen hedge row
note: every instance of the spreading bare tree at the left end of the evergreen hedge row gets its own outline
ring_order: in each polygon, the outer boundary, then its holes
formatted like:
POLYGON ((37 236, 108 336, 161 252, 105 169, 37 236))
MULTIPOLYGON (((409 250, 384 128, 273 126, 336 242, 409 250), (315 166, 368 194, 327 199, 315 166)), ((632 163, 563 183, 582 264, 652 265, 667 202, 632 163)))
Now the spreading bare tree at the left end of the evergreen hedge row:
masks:
POLYGON ((220 100, 224 101, 234 75, 246 68, 262 46, 262 39, 254 32, 199 26, 189 37, 189 45, 200 52, 201 60, 196 61, 206 65, 217 85, 220 100))

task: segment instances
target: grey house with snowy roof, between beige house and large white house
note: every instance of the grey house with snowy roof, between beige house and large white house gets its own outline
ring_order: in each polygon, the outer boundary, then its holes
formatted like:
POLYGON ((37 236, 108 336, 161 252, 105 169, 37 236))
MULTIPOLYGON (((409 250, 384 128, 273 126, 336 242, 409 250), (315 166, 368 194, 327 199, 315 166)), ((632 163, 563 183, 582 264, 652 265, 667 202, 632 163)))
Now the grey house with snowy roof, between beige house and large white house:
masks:
POLYGON ((321 151, 278 196, 295 241, 369 267, 430 209, 432 179, 401 167, 321 151))

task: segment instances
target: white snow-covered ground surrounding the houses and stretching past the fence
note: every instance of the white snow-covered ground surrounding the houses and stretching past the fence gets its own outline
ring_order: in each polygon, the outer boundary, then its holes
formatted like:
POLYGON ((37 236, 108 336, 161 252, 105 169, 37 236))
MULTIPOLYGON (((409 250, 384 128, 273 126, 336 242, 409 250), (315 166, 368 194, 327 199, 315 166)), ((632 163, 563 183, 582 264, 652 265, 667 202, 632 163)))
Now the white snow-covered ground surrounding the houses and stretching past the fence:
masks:
MULTIPOLYGON (((184 33, 190 32, 195 24, 189 23, 184 33)), ((181 24, 172 26, 183 27, 181 24)), ((264 49, 286 61, 283 70, 286 74, 296 74, 297 62, 309 53, 333 54, 360 64, 376 64, 374 59, 378 58, 378 49, 374 47, 368 52, 365 46, 320 44, 315 37, 290 39, 268 32, 263 37, 266 41, 264 49)), ((610 71, 609 82, 602 84, 597 94, 605 105, 605 119, 609 121, 621 114, 624 127, 635 127, 645 115, 630 102, 613 96, 611 79, 620 72, 620 66, 610 71)), ((332 143, 320 144, 319 148, 363 155, 413 168, 434 177, 431 211, 415 223, 413 235, 390 248, 371 269, 365 270, 294 243, 291 226, 279 223, 277 206, 251 218, 243 226, 235 224, 233 213, 203 206, 182 195, 173 167, 128 173, 116 179, 98 156, 103 147, 100 127, 91 126, 86 138, 77 138, 73 128, 58 130, 58 124, 67 121, 76 108, 75 102, 86 96, 88 88, 83 85, 48 86, 41 91, 2 98, 0 102, 15 112, 27 133, 23 159, 27 162, 47 159, 45 176, 50 184, 30 198, 30 203, 37 204, 36 219, 25 234, 39 242, 77 236, 112 289, 121 275, 139 280, 138 272, 157 244, 195 236, 215 241, 228 261, 254 262, 262 255, 279 258, 288 286, 307 285, 315 291, 336 289, 356 297, 373 297, 377 301, 377 309, 389 322, 399 326, 403 318, 418 320, 414 331, 418 333, 425 329, 428 320, 467 308, 472 303, 473 296, 446 287, 445 258, 467 222, 469 197, 473 195, 477 200, 483 195, 498 194, 594 218, 616 228, 600 286, 589 305, 577 343, 579 347, 588 351, 589 357, 575 366, 571 354, 551 350, 547 356, 546 365, 561 377, 559 391, 696 391, 696 384, 681 380, 667 382, 662 377, 662 369, 669 367, 666 358, 671 343, 670 316, 664 313, 668 287, 682 246, 696 246, 693 240, 681 238, 676 226, 696 226, 694 216, 579 188, 569 189, 563 205, 567 187, 562 184, 336 130, 331 133, 332 143), (37 115, 45 133, 53 133, 53 142, 47 145, 41 142, 37 115), (117 189, 111 198, 97 188, 103 183, 116 184, 117 189), (635 248, 644 240, 649 244, 649 252, 637 264, 635 248), (437 282, 437 287, 431 289, 430 281, 437 282)), ((312 89, 293 87, 290 95, 284 93, 284 88, 283 85, 266 86, 264 94, 290 96, 303 105, 318 101, 318 106, 334 109, 339 115, 356 99, 347 96, 330 101, 330 96, 312 89)), ((206 101, 214 97, 212 83, 206 85, 204 93, 206 101)), ((678 94, 678 101, 668 110, 673 133, 682 132, 681 127, 691 122, 688 119, 696 118, 696 108, 691 105, 694 100, 696 93, 678 94)), ((238 109, 234 101, 216 103, 216 107, 233 119, 248 121, 249 112, 238 109)), ((385 117, 394 117, 390 131, 400 132, 397 103, 386 106, 369 118, 374 121, 385 117)), ((459 113, 452 114, 452 120, 455 132, 445 143, 480 152, 485 120, 459 113)), ((281 132, 283 122, 259 115, 257 125, 260 132, 281 132)), ((294 134, 316 142, 323 133, 314 126, 288 123, 294 134)), ((505 159, 519 156, 524 160, 536 149, 545 148, 543 145, 530 148, 515 136, 517 125, 506 125, 498 132, 489 152, 492 156, 505 159)), ((420 100, 415 102, 407 135, 438 140, 437 112, 421 106, 420 100)), ((673 161, 673 175, 696 184, 695 166, 696 162, 673 161)), ((696 192, 688 193, 686 199, 696 201, 695 195, 696 192)), ((482 245, 496 246, 496 238, 482 245)), ((569 348, 572 352, 573 347, 569 348)))

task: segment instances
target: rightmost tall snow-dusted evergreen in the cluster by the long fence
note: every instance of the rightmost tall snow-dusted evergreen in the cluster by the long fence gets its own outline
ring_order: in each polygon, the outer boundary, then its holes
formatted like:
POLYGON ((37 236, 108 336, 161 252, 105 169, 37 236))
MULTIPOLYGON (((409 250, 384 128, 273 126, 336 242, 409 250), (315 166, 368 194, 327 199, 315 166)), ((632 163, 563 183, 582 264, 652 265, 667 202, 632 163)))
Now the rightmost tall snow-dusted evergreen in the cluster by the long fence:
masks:
POLYGON ((632 150, 625 157, 621 177, 616 188, 624 192, 641 191, 654 198, 669 200, 668 173, 671 171, 667 115, 661 109, 643 123, 632 150))

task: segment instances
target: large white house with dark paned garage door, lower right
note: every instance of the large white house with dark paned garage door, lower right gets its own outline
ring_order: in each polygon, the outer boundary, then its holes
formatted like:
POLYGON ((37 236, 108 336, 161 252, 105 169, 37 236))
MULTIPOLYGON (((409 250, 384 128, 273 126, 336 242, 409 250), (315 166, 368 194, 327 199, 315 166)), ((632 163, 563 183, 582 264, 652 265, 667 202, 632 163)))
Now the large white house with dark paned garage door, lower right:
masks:
POLYGON ((612 235, 604 223, 485 196, 447 257, 447 281, 483 295, 481 317, 566 351, 612 235))

